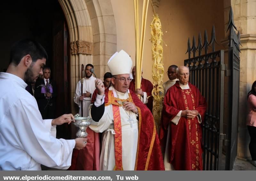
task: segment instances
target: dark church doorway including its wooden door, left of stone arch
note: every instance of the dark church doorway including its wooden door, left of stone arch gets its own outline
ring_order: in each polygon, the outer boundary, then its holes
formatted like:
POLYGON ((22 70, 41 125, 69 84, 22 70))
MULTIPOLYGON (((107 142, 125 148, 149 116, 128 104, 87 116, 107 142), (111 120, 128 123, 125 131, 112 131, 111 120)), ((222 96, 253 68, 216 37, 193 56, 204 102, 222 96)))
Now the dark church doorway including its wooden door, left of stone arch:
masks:
MULTIPOLYGON (((55 117, 70 113, 70 86, 68 84, 68 31, 65 15, 57 0, 2 1, 2 26, 0 72, 6 71, 11 45, 24 38, 42 44, 48 53, 46 66, 51 68, 51 78, 57 83, 57 108, 55 117)), ((55 118, 53 117, 53 118, 55 118)), ((57 127, 57 138, 70 138, 69 125, 57 127)))

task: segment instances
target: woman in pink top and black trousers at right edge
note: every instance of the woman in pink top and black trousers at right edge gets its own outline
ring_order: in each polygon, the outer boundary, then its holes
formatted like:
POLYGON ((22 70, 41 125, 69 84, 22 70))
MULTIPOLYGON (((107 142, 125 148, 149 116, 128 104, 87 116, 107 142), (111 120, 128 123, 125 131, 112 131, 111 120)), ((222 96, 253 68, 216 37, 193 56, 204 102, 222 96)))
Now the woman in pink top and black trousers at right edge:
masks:
POLYGON ((252 90, 247 95, 249 114, 247 117, 247 128, 251 141, 249 144, 250 154, 252 156, 252 164, 256 166, 256 81, 252 84, 252 90))

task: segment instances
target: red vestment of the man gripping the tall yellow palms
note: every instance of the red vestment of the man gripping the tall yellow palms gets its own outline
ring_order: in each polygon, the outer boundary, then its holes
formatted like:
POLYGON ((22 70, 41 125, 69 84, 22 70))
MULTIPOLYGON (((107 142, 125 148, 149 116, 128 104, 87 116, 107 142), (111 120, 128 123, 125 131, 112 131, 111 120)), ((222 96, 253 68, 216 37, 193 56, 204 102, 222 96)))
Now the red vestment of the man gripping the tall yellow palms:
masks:
MULTIPOLYGON (((148 106, 148 109, 152 113, 152 109, 153 109, 153 96, 152 96, 153 84, 149 80, 141 78, 140 88, 142 89, 143 92, 146 92, 147 95, 148 95, 148 103, 146 105, 148 106)), ((132 79, 132 81, 130 83, 130 86, 129 86, 129 89, 132 90, 133 92, 135 92, 135 80, 134 79, 132 79)))

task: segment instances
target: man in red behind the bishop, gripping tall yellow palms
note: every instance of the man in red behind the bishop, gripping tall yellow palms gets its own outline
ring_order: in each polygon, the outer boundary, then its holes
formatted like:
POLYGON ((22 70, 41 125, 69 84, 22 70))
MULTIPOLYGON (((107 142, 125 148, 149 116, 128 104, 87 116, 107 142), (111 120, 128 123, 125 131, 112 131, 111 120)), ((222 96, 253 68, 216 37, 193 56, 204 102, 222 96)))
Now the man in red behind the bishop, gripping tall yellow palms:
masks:
MULTIPOLYGON (((142 73, 143 72, 141 72, 141 75, 142 75, 142 73)), ((143 79, 141 77, 140 88, 137 88, 135 90, 135 81, 136 81, 136 67, 135 66, 132 68, 132 77, 133 77, 133 79, 130 83, 129 89, 132 90, 133 92, 135 92, 136 94, 139 94, 141 102, 146 104, 148 109, 152 112, 152 109, 153 109, 153 97, 152 97, 153 84, 149 80, 143 79)))

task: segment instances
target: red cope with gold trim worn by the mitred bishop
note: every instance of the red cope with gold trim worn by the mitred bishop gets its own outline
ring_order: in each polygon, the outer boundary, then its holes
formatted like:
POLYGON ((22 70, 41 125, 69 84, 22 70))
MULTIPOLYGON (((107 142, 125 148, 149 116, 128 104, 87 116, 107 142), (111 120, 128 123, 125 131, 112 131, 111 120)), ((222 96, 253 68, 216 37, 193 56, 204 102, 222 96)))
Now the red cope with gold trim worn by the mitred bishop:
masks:
MULTIPOLYGON (((139 110, 139 136, 134 170, 164 170, 164 162, 153 115, 131 90, 129 97, 132 99, 128 101, 133 102, 139 110)), ((112 91, 105 90, 105 106, 110 104, 113 104, 113 106, 118 105, 117 99, 113 96, 112 91)), ((94 101, 92 100, 92 102, 94 101)), ((115 158, 118 157, 116 154, 115 158)))

